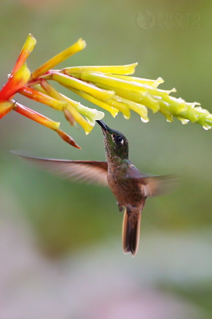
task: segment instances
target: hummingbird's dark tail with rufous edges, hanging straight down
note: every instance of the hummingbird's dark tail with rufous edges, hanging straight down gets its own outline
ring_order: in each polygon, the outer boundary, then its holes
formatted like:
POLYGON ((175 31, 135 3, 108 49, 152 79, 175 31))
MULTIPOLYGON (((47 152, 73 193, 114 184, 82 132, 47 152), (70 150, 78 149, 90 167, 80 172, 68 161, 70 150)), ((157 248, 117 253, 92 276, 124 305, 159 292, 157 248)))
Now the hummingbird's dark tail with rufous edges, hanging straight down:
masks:
POLYGON ((127 209, 125 208, 122 224, 122 244, 124 253, 127 254, 131 251, 133 256, 136 255, 139 247, 141 213, 137 217, 136 222, 135 220, 133 221, 132 215, 129 212, 127 214, 127 209))

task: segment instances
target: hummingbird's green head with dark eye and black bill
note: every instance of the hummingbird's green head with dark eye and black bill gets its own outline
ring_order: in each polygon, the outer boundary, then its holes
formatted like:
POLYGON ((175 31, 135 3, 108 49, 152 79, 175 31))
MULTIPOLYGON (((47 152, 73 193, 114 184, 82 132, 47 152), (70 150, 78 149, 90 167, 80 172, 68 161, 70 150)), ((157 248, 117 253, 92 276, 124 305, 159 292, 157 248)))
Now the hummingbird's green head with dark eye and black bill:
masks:
POLYGON ((127 138, 122 133, 110 129, 102 120, 96 122, 103 131, 106 157, 111 160, 114 157, 128 159, 129 147, 127 138))

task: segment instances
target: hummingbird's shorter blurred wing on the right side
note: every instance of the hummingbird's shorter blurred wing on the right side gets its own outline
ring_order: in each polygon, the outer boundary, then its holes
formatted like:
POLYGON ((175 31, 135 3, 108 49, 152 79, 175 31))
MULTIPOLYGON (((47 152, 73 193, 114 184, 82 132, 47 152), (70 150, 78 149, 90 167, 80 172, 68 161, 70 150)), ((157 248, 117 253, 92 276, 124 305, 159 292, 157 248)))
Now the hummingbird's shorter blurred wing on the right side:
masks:
POLYGON ((141 191, 145 197, 165 195, 172 191, 178 182, 176 176, 154 176, 146 174, 139 171, 134 165, 131 165, 126 169, 125 177, 136 179, 138 182, 141 182, 141 191))

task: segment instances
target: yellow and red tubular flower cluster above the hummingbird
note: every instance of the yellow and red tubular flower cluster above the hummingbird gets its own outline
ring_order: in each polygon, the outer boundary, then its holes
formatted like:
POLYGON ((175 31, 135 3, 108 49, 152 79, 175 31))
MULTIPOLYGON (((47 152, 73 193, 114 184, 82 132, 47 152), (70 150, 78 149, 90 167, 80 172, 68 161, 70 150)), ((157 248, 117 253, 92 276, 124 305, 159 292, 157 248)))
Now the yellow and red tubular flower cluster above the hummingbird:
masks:
POLYGON ((63 111, 71 126, 77 122, 88 134, 95 125, 95 120, 101 120, 104 117, 104 112, 88 108, 58 92, 49 83, 50 80, 53 80, 109 111, 113 117, 120 111, 126 119, 129 119, 130 110, 133 110, 140 115, 142 122, 146 123, 148 122, 148 107, 153 113, 161 112, 168 122, 173 121, 173 117, 176 117, 182 124, 191 121, 191 123, 202 125, 206 130, 212 128, 212 114, 202 109, 199 103, 187 103, 182 98, 171 96, 170 93, 176 92, 176 89, 170 91, 158 89, 159 84, 164 82, 162 78, 147 80, 130 76, 135 72, 137 63, 52 69, 59 62, 85 48, 86 43, 82 39, 31 73, 25 61, 35 44, 35 38, 29 34, 8 76, 8 81, 0 90, 0 118, 14 110, 56 131, 66 142, 80 148, 72 137, 60 129, 59 122, 12 99, 13 95, 18 92, 56 110, 63 111))

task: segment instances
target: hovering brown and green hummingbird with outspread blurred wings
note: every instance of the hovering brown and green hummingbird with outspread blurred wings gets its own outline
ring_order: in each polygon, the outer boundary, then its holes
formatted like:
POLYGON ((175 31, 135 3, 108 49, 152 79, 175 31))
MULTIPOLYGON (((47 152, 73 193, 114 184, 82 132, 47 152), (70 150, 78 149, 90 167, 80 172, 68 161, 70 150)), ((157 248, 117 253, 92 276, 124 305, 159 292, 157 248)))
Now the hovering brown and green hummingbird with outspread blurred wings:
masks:
POLYGON ((106 161, 48 159, 13 153, 64 178, 108 185, 117 200, 119 211, 124 210, 124 253, 131 252, 135 256, 139 246, 141 212, 145 201, 148 197, 166 192, 173 178, 148 175, 139 171, 129 160, 127 138, 110 129, 102 120, 96 122, 102 128, 106 161))

